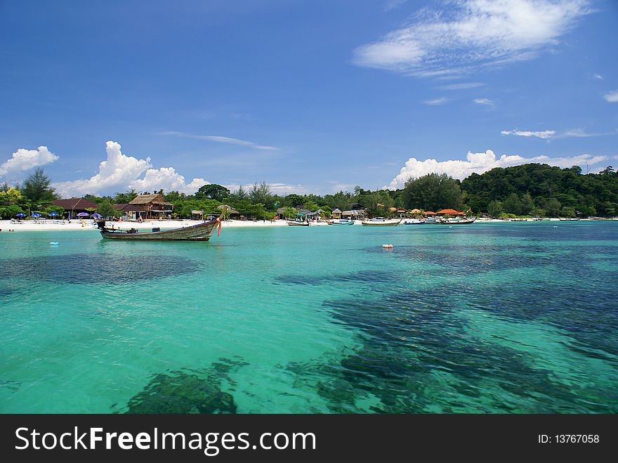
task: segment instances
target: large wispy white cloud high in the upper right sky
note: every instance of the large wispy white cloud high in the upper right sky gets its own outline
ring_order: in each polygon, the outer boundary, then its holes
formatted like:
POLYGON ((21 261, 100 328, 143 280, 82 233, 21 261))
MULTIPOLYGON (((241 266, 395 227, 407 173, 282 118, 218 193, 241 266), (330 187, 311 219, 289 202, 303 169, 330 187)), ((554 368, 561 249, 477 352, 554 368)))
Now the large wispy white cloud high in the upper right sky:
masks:
POLYGON ((424 77, 538 56, 591 12, 588 0, 459 0, 354 51, 354 63, 424 77))

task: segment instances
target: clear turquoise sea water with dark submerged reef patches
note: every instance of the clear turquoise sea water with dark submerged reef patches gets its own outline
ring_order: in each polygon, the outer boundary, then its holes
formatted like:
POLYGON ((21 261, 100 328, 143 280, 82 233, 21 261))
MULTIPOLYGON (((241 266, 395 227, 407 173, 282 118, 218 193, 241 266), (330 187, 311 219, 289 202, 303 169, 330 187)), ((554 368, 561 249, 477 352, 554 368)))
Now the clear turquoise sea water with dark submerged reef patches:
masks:
POLYGON ((615 222, 0 233, 0 412, 615 413, 617 238, 615 222))

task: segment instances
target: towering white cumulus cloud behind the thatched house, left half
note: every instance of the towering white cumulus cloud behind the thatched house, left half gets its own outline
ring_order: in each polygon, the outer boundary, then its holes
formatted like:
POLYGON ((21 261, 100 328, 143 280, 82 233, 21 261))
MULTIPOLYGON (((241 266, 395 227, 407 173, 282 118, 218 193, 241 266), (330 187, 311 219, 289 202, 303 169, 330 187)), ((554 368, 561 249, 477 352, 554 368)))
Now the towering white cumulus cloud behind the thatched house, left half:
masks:
POLYGON ((200 186, 208 183, 203 178, 194 178, 187 184, 185 178, 173 167, 153 169, 150 157, 137 159, 124 155, 121 152, 121 145, 115 141, 108 141, 105 144, 105 151, 107 158, 99 164, 97 174, 84 180, 54 183, 56 191, 62 197, 80 196, 86 193, 112 193, 126 188, 135 188, 138 191, 163 188, 166 191, 195 193, 200 186), (144 173, 145 176, 140 178, 144 173))

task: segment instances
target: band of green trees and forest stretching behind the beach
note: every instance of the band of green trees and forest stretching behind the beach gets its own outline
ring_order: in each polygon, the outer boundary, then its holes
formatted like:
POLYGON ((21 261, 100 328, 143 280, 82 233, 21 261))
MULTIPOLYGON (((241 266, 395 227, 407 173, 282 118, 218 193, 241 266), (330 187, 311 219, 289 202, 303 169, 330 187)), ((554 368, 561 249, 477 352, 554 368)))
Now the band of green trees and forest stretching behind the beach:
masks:
MULTIPOLYGON (((150 192, 143 192, 149 194, 150 192)), ((365 209, 369 216, 391 216, 393 208, 439 211, 458 209, 472 214, 505 216, 615 216, 618 211, 618 174, 609 166, 598 174, 582 174, 581 168, 567 169, 547 164, 522 164, 496 168, 485 174, 472 174, 463 181, 447 174, 428 174, 410 178, 399 190, 339 191, 329 195, 277 195, 266 182, 230 191, 223 185, 203 185, 196 193, 155 191, 174 206, 175 218, 190 218, 192 210, 218 214, 218 206, 227 204, 252 219, 272 219, 277 214, 293 217, 299 209, 329 216, 334 209, 365 209)), ((135 190, 114 195, 85 195, 97 204, 102 216, 120 215, 113 204, 131 202, 135 190)), ((41 211, 62 213, 51 206, 57 199, 51 181, 43 169, 37 169, 22 185, 0 185, 0 216, 41 211)))

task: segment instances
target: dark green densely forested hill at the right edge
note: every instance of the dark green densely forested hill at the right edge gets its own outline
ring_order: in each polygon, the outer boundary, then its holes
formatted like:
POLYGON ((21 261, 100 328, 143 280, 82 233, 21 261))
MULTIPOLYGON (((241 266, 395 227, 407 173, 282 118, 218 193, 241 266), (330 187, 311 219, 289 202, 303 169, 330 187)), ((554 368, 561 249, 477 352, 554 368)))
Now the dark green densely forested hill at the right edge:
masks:
POLYGON ((578 166, 522 164, 472 174, 461 181, 461 190, 475 212, 615 216, 618 211, 618 175, 612 167, 584 175, 578 166))

